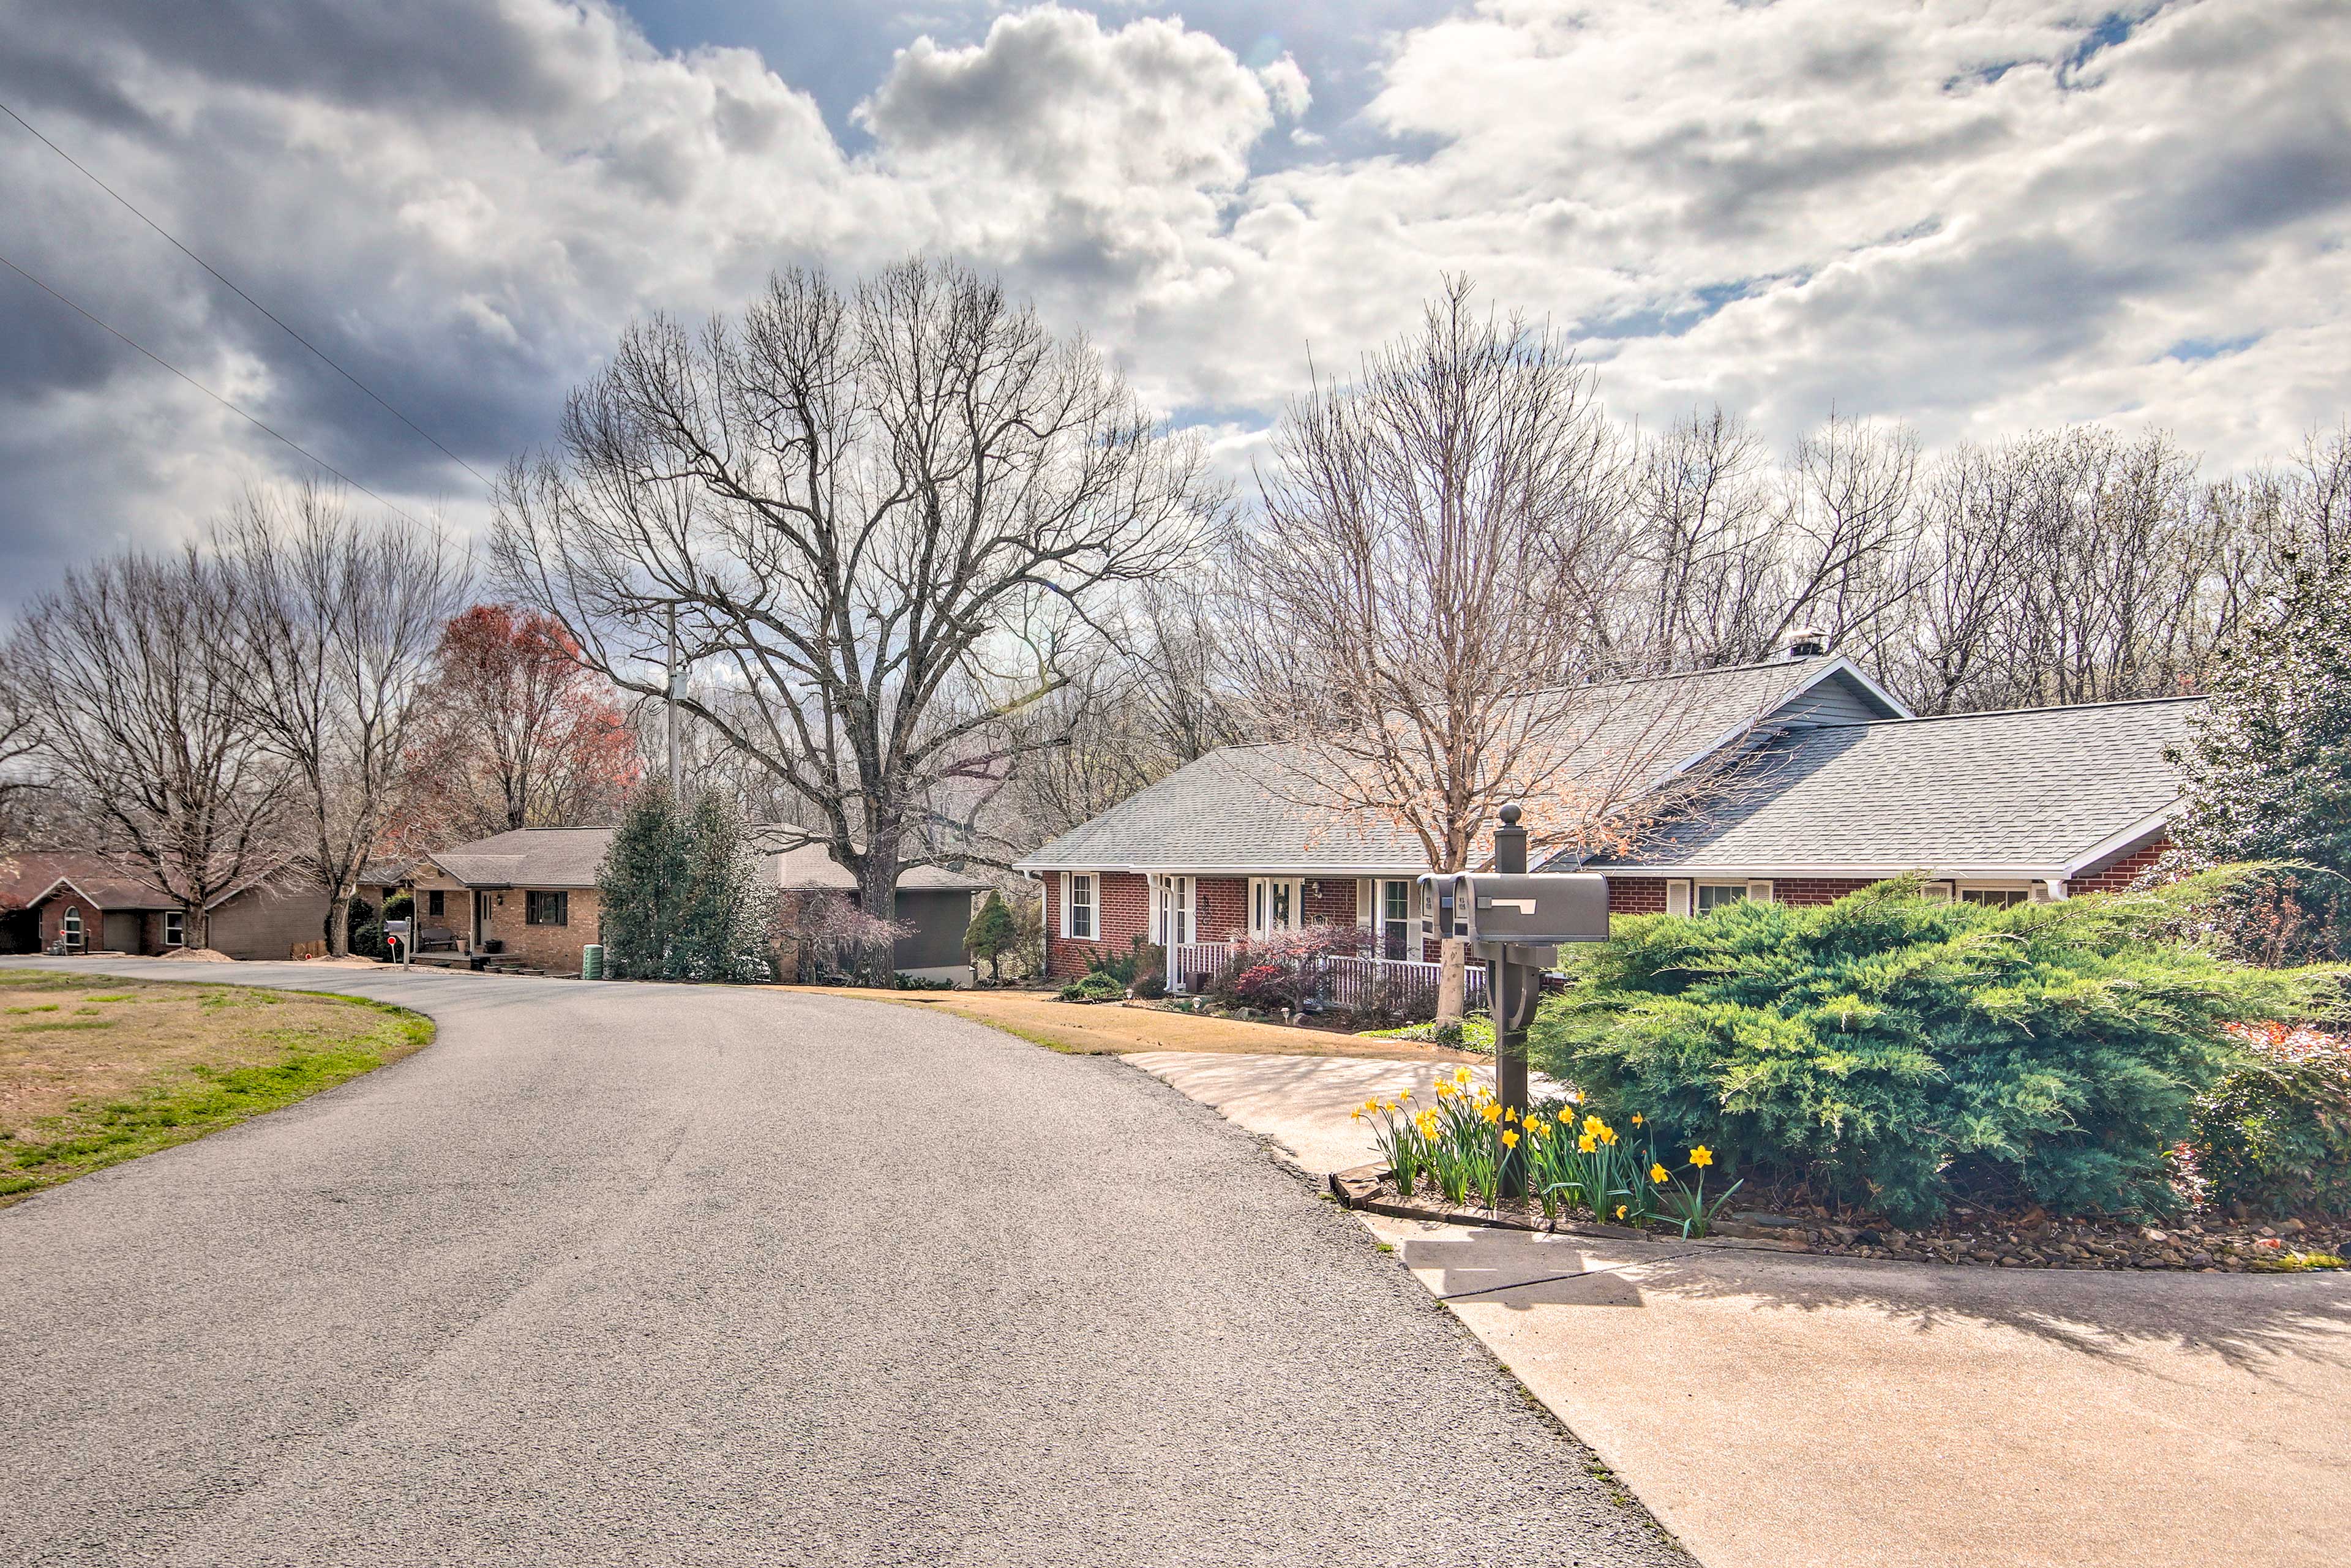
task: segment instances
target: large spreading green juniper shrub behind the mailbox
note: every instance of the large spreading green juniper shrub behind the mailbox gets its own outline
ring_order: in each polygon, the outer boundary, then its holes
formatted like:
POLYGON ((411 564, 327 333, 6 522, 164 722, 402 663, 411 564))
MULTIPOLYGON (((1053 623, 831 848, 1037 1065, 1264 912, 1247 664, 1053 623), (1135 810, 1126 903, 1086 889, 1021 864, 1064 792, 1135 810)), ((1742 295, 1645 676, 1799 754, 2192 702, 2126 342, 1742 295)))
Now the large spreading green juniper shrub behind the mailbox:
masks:
POLYGON ((1531 1046, 1613 1119, 1900 1222, 1954 1197, 2161 1213, 2196 1095, 2245 1060, 2226 1025, 2332 987, 2156 936, 2226 886, 1989 910, 1886 882, 1620 919, 1531 1046))

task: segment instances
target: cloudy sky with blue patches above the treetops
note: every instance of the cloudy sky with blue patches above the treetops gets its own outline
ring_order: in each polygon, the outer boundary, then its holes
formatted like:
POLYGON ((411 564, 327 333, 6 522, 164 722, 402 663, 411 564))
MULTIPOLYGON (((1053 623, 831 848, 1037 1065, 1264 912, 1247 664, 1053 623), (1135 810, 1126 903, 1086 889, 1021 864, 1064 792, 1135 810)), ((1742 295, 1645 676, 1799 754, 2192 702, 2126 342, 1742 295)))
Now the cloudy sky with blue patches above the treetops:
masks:
MULTIPOLYGON (((783 261, 1004 273, 1237 473, 1446 270, 1648 423, 2215 468, 2351 411, 2342 0, 0 0, 0 101, 465 463, 783 261)), ((404 508, 480 484, 0 118, 0 256, 404 508)), ((303 458, 0 268, 0 599, 303 458)))

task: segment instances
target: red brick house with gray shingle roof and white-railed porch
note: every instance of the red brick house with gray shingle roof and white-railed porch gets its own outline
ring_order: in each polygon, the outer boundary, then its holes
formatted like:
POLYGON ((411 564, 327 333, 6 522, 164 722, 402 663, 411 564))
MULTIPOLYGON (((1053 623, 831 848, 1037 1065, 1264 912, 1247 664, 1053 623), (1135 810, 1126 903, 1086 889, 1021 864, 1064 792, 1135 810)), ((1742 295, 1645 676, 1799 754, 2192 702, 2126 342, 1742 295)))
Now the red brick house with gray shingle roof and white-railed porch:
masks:
MULTIPOLYGON (((1909 872, 2001 903, 2121 886, 2165 849, 2179 788, 2163 748, 2201 703, 1918 719, 1827 654, 1615 682, 1599 698, 1603 750, 1608 731, 1643 736, 1646 788, 1735 759, 1702 816, 1585 865, 1625 914, 1829 903, 1909 872)), ((1434 961, 1420 842, 1300 804, 1298 778, 1274 748, 1225 748, 1018 860, 1044 884, 1049 973, 1079 976, 1140 936, 1168 947, 1183 990, 1227 943, 1310 924, 1364 926, 1385 964, 1434 961)))

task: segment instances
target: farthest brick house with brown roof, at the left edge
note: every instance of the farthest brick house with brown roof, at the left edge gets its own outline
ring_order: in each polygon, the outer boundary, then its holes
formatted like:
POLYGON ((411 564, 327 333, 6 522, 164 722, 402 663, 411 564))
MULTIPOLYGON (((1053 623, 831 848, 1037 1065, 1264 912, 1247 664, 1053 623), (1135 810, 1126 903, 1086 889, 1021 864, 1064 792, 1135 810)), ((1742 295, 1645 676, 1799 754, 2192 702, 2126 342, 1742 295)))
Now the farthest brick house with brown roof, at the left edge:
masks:
MULTIPOLYGON (((301 877, 256 877, 209 905, 212 947, 284 959, 327 933, 327 896, 301 877)), ((0 865, 0 952, 129 952, 188 945, 188 910, 106 856, 28 849, 0 865)))

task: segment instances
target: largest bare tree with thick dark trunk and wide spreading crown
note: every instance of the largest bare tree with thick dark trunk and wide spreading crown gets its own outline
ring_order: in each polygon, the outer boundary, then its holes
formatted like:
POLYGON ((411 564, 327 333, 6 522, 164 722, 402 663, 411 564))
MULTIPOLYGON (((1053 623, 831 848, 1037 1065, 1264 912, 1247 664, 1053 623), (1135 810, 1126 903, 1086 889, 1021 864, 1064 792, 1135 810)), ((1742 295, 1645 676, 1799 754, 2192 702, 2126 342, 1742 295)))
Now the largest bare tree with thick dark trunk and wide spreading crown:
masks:
POLYGON ((940 797, 1060 743, 1009 719, 1213 505, 1199 447, 1100 355, 907 261, 846 292, 776 275, 698 334, 630 327, 560 451, 505 475, 494 555, 630 691, 661 691, 675 614, 686 663, 738 696, 682 703, 809 802, 860 910, 893 919, 900 867, 952 853, 926 832, 940 797))

